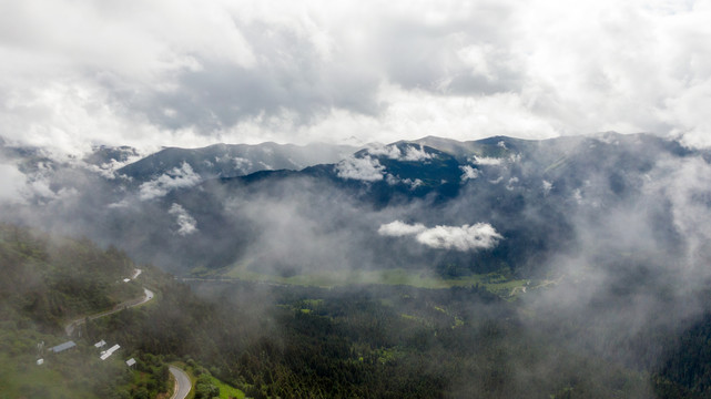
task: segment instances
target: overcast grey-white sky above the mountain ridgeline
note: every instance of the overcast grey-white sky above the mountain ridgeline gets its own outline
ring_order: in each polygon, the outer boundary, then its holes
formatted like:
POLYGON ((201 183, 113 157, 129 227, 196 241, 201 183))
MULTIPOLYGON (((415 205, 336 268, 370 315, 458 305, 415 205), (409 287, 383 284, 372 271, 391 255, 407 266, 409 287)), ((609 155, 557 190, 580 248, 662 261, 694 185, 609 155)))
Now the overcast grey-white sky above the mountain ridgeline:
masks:
POLYGON ((0 0, 0 136, 711 143, 709 1, 0 0))

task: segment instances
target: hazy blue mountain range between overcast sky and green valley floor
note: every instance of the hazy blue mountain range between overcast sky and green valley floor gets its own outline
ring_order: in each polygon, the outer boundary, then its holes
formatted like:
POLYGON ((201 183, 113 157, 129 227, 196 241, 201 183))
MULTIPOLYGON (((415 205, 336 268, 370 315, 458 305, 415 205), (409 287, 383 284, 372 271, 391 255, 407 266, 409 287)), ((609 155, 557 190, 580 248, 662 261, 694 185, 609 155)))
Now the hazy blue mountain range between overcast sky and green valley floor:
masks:
POLYGON ((286 274, 410 267, 526 276, 585 252, 581 232, 603 231, 628 211, 636 224, 626 227, 651 231, 649 239, 607 244, 679 256, 684 237, 660 178, 709 158, 676 141, 616 133, 430 136, 363 149, 217 144, 142 158, 130 147, 99 147, 80 161, 6 144, 3 154, 27 176, 7 215, 119 243, 179 274, 242 264, 286 274), (650 200, 650 190, 661 196, 650 200))

